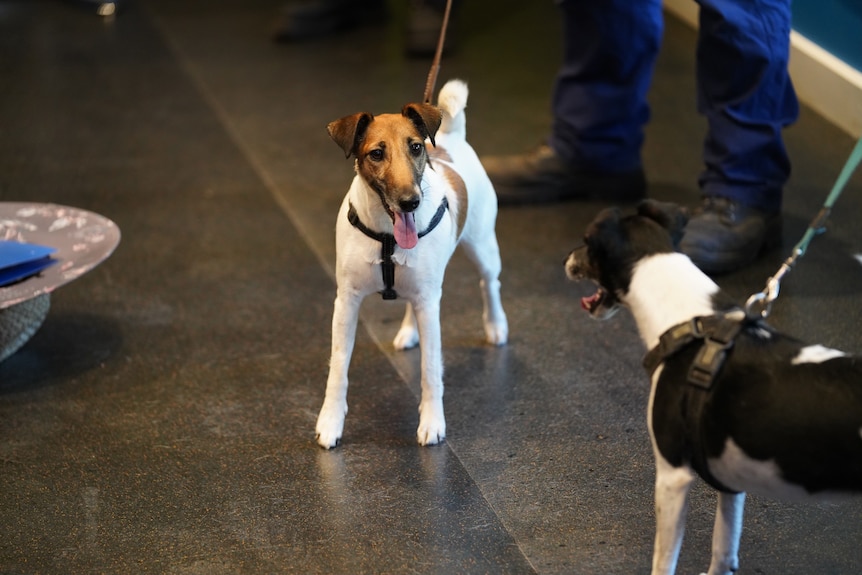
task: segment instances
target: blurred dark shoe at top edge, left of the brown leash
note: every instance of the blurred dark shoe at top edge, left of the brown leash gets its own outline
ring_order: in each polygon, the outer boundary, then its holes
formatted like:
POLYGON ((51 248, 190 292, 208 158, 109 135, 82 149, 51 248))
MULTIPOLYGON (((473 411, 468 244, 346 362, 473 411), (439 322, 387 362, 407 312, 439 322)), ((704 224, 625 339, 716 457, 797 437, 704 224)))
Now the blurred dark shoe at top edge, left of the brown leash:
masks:
POLYGON ((294 0, 282 10, 273 37, 276 42, 311 40, 385 16, 385 0, 294 0))

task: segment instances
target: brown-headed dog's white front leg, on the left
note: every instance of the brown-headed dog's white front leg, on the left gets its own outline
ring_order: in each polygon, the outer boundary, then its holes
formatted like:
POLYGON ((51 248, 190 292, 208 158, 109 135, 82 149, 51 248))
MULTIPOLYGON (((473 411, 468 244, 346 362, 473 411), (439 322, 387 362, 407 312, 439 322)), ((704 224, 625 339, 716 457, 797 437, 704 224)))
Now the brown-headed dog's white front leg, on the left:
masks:
POLYGON ((326 397, 317 416, 317 443, 331 449, 341 441, 347 415, 347 370, 356 340, 362 296, 353 290, 338 289, 332 312, 332 352, 326 397))

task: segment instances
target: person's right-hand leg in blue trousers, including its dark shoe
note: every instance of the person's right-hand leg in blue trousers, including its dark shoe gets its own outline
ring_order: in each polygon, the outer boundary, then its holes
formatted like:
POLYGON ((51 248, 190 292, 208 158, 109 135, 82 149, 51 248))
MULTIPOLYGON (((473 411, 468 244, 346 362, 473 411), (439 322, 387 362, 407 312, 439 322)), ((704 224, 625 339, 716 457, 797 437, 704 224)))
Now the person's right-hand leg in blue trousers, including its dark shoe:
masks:
POLYGON ((700 0, 697 106, 708 131, 704 199, 680 249, 726 272, 780 241, 790 160, 781 130, 799 115, 787 69, 790 0, 700 0))

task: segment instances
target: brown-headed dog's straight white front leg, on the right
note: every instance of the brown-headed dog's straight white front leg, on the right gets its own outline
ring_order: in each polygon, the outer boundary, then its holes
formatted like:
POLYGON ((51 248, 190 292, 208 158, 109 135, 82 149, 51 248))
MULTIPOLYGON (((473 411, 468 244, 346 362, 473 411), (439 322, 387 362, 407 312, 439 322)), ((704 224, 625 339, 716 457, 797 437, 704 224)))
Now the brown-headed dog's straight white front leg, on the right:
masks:
MULTIPOLYGON (((429 290, 430 291, 430 290, 429 290)), ((440 297, 442 289, 413 302, 413 311, 422 342, 422 398, 419 401, 420 445, 435 445, 446 437, 443 415, 443 345, 440 334, 440 297)))

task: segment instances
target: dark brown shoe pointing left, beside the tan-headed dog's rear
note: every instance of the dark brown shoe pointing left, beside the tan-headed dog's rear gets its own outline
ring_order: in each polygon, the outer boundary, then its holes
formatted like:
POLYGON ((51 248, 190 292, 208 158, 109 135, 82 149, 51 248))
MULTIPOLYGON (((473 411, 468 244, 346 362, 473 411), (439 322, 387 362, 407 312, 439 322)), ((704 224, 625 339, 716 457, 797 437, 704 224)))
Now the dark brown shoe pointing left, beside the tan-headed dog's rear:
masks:
POLYGON ((529 154, 485 156, 481 161, 494 183, 500 205, 567 200, 636 202, 646 193, 641 168, 627 172, 572 170, 547 145, 529 154))

